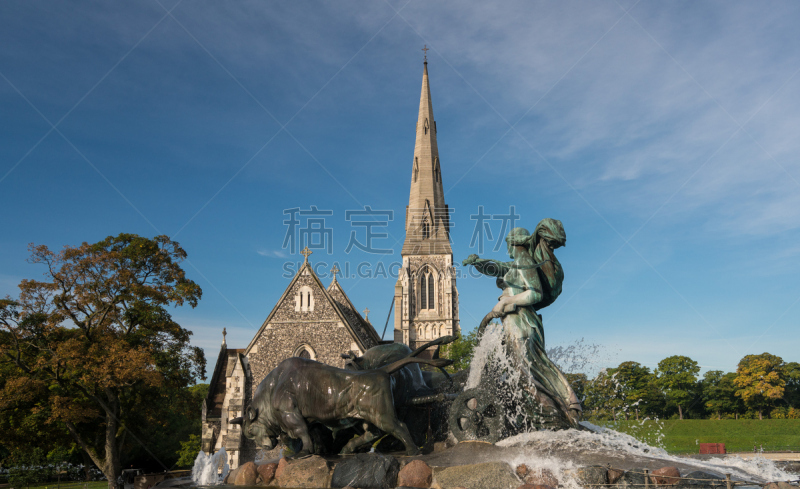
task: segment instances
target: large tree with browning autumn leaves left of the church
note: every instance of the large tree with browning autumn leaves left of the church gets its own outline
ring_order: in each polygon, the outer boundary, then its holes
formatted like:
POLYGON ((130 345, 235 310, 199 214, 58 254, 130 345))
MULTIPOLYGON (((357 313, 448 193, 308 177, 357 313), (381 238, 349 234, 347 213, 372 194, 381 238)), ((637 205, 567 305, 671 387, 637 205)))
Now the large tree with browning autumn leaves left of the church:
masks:
POLYGON ((167 236, 133 234, 60 252, 30 246, 44 280, 23 280, 0 301, 0 363, 15 371, 0 410, 37 399, 116 488, 120 447, 140 439, 143 393, 205 377, 205 358, 169 306, 197 305, 200 287, 180 267, 186 252, 167 236))

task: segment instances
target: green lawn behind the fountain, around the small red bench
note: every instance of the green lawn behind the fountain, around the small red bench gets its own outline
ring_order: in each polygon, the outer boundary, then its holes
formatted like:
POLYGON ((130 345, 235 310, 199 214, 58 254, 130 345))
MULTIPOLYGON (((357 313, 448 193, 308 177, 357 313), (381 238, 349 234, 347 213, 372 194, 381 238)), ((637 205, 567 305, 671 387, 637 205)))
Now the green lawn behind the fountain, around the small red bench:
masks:
POLYGON ((728 452, 800 451, 800 419, 685 419, 595 424, 627 433, 670 453, 698 453, 698 443, 724 443, 728 452))

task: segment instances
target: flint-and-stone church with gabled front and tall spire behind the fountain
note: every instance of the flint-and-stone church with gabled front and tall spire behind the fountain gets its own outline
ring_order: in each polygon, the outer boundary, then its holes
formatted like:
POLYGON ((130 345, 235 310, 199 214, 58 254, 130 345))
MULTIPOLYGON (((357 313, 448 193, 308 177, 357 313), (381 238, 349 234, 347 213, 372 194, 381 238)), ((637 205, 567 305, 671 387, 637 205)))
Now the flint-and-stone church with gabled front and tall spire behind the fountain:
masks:
MULTIPOLYGON (((458 291, 450 248, 450 214, 444 201, 428 62, 422 75, 411 193, 406 207, 403 260, 394 290, 394 341, 412 349, 460 333, 458 291)), ((246 348, 228 348, 223 331, 208 396, 203 402, 202 449, 224 447, 230 467, 251 460, 256 447, 229 420, 242 416, 258 384, 281 361, 299 356, 344 367, 342 353, 363 354, 382 339, 336 280, 325 287, 305 262, 246 348)), ((390 343, 383 342, 383 343, 390 343)), ((428 356, 433 352, 426 352, 428 356)))

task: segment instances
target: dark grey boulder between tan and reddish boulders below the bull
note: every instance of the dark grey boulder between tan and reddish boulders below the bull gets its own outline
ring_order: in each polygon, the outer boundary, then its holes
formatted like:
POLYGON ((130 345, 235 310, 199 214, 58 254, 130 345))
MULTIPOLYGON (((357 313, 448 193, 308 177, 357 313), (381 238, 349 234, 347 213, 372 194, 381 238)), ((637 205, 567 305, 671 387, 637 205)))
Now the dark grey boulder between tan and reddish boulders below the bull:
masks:
POLYGON ((359 453, 336 464, 331 487, 389 489, 397 486, 400 462, 391 455, 359 453))

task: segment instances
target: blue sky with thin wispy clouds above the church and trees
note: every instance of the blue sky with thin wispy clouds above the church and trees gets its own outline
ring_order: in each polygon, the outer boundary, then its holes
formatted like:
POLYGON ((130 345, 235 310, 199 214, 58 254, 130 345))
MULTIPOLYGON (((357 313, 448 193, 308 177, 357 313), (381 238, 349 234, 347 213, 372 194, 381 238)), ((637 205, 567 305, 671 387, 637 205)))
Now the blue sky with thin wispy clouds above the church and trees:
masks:
MULTIPOLYGON (((167 234, 204 290, 174 314, 213 363, 222 328, 245 346, 302 259, 284 209, 332 211, 312 262, 400 260, 427 44, 455 261, 477 252, 478 206, 564 223, 548 347, 583 345, 590 370, 798 361, 798 18, 795 2, 7 0, 0 295, 42 272, 28 243, 167 234), (345 253, 365 205, 395 212, 373 242, 394 254, 345 253)), ((341 280, 382 330, 395 280, 341 280)), ((497 289, 458 288, 468 331, 497 289)))

